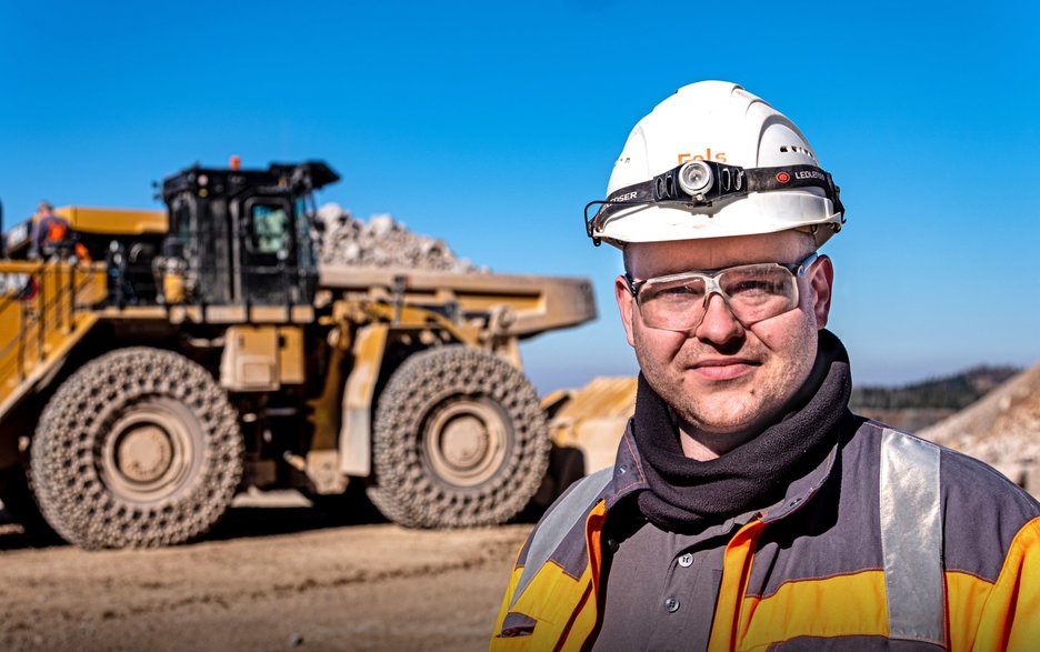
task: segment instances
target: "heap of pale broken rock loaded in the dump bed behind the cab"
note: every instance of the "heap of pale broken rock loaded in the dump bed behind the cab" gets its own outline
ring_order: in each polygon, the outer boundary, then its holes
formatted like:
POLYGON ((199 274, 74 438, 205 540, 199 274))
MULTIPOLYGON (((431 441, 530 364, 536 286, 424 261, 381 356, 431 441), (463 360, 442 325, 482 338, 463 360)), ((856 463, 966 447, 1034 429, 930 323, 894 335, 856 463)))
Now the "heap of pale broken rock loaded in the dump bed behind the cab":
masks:
POLYGON ((438 272, 487 271, 456 257, 443 240, 408 230, 389 213, 372 215, 368 223, 337 203, 318 209, 324 225, 318 237, 319 260, 326 265, 408 268, 438 272))

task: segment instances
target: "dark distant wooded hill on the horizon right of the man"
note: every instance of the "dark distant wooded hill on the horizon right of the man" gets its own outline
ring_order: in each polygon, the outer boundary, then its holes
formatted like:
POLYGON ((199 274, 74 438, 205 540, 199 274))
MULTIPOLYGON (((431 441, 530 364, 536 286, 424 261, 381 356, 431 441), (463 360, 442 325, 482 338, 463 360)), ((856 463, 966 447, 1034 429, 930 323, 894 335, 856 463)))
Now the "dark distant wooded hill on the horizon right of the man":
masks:
POLYGON ((984 397, 1021 369, 974 367, 954 375, 929 379, 902 387, 853 387, 849 402, 853 410, 904 410, 944 408, 960 410, 984 397))

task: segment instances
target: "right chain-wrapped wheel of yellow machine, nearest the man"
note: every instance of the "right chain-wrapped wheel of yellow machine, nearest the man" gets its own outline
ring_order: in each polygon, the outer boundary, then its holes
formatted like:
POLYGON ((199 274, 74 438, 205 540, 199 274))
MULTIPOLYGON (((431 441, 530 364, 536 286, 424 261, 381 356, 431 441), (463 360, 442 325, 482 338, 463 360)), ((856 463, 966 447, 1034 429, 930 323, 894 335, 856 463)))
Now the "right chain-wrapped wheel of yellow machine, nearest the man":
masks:
POLYGON ((538 394, 520 371, 466 347, 424 351, 379 398, 369 496, 409 528, 504 523, 538 491, 549 449, 538 394))

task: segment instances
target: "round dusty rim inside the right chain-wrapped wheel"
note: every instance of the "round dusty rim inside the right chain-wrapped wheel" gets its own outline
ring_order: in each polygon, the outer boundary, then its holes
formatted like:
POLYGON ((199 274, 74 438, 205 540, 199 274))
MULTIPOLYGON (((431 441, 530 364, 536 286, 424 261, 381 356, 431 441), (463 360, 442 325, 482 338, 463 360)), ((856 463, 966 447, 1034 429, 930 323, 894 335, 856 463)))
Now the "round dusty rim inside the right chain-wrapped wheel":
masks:
POLYGON ((506 460, 508 424, 491 401, 459 398, 432 414, 424 441, 426 460, 437 478, 454 487, 478 487, 506 460))

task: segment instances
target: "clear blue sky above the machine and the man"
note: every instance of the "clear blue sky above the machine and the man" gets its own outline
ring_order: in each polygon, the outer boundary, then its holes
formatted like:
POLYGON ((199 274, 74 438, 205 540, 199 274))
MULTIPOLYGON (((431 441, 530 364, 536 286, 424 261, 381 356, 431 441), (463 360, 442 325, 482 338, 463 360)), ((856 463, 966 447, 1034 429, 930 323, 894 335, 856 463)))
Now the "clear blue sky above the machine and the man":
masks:
POLYGON ((196 161, 323 159, 319 201, 501 272, 587 275, 601 317, 523 348, 539 390, 632 373, 584 238, 632 126, 736 81, 807 133, 848 224, 824 251, 858 383, 1040 360, 1040 10, 960 2, 0 2, 6 225, 159 208, 196 161))

